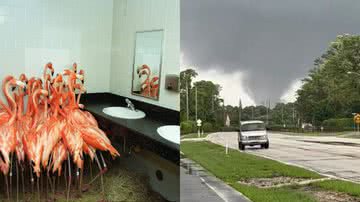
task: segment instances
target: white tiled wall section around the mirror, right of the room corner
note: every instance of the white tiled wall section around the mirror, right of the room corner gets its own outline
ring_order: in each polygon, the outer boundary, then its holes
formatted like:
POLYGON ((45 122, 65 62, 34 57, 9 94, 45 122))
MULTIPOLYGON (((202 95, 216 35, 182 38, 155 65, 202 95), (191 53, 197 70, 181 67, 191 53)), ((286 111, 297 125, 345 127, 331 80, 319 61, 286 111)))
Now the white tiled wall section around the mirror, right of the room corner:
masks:
POLYGON ((140 101, 179 110, 178 93, 164 88, 166 74, 179 74, 180 1, 115 0, 111 60, 111 92, 140 101), (159 100, 131 94, 135 32, 164 29, 159 100))

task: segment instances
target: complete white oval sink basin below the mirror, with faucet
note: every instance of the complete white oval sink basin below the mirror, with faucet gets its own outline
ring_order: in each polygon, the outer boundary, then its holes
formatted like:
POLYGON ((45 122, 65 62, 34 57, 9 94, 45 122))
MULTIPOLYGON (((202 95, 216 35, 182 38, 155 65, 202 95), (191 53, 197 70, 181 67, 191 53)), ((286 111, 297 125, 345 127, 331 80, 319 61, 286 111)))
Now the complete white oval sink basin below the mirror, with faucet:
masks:
POLYGON ((145 113, 140 110, 133 111, 127 107, 106 107, 103 112, 109 116, 122 119, 142 119, 145 113))

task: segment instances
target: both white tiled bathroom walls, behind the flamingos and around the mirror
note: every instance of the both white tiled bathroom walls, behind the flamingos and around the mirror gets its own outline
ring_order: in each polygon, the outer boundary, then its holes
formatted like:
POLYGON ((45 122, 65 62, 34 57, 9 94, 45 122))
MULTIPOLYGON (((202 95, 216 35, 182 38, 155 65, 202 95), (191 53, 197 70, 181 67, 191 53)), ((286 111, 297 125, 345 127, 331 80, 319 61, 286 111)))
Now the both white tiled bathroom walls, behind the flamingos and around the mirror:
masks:
POLYGON ((88 92, 179 110, 178 93, 164 88, 165 75, 179 73, 179 55, 179 0, 0 0, 0 80, 76 61, 88 92), (131 95, 135 32, 154 29, 164 29, 159 101, 131 95))

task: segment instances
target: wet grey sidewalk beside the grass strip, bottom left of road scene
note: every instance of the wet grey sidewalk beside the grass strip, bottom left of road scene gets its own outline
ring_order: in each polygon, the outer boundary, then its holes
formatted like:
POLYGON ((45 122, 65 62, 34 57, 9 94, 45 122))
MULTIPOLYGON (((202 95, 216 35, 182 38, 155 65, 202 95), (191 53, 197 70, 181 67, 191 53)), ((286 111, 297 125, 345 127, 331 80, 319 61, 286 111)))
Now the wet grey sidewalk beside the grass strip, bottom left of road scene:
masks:
POLYGON ((180 201, 250 201, 192 160, 181 159, 180 164, 180 201))

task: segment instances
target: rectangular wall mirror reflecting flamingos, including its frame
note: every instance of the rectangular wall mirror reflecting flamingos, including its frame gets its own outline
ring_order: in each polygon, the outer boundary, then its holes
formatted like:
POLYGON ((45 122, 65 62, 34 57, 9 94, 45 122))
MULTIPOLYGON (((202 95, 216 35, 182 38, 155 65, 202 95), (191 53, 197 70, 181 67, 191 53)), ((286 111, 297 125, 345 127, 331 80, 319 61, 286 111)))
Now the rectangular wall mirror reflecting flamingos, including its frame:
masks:
POLYGON ((136 32, 131 93, 159 99, 163 30, 136 32))

